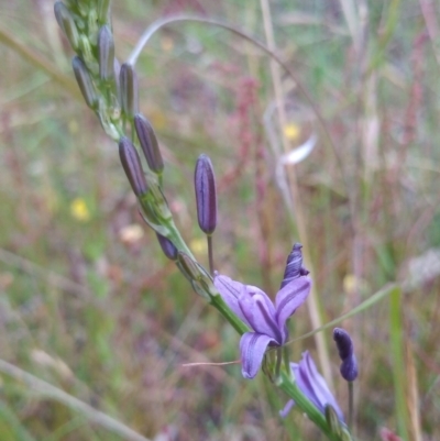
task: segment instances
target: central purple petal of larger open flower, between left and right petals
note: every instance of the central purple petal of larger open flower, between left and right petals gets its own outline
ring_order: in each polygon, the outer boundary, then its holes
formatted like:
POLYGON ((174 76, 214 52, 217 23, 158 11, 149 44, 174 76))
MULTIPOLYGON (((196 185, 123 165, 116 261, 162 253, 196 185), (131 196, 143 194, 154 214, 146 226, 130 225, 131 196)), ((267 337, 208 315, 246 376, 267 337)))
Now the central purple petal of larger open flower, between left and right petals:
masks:
POLYGON ((239 305, 253 330, 265 334, 282 344, 282 333, 276 322, 275 307, 266 294, 260 291, 253 294, 249 287, 242 290, 239 305))

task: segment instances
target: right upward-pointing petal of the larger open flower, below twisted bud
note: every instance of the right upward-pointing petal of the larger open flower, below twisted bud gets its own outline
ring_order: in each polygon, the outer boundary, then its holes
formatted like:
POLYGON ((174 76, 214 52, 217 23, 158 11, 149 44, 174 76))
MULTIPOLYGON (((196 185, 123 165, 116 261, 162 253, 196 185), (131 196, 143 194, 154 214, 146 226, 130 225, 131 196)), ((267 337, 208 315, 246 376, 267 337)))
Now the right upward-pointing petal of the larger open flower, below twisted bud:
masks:
MULTIPOLYGON (((284 330, 286 320, 305 302, 310 293, 310 286, 311 282, 308 277, 299 277, 278 291, 275 307, 279 329, 284 330)), ((285 338, 286 335, 283 335, 283 339, 285 338)))

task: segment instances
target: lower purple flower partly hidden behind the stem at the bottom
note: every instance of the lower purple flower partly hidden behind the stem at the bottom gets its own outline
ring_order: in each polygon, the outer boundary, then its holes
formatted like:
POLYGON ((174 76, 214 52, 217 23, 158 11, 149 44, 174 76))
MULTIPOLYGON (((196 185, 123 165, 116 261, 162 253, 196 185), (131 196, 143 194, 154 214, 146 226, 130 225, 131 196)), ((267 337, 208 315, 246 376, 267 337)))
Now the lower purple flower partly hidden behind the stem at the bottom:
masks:
MULTIPOLYGON (((302 353, 302 359, 299 363, 290 363, 292 372, 295 375, 295 382, 301 393, 322 412, 326 407, 331 406, 337 412, 339 419, 343 422, 342 410, 337 400, 331 394, 329 386, 322 375, 319 374, 317 366, 309 351, 302 353)), ((279 415, 285 418, 289 410, 295 406, 293 399, 287 401, 285 408, 279 415)))

